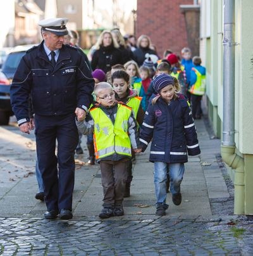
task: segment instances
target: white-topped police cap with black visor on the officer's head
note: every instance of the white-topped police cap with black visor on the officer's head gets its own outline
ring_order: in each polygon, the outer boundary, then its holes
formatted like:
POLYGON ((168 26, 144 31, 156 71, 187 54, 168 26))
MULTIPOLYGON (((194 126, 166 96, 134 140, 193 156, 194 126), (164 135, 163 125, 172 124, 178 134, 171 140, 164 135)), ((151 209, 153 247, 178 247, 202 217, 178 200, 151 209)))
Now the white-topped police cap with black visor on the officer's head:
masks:
POLYGON ((46 20, 40 20, 39 25, 42 30, 52 32, 56 35, 68 35, 66 23, 68 18, 47 18, 46 20))

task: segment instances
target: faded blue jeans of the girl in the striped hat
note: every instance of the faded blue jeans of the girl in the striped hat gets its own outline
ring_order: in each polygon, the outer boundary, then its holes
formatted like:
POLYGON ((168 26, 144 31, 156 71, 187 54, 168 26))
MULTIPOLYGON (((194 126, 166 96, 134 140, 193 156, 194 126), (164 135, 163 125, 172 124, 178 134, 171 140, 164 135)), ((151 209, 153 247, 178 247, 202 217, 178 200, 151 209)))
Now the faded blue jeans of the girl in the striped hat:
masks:
POLYGON ((154 162, 154 185, 157 203, 166 202, 167 173, 170 174, 170 191, 172 195, 180 193, 185 165, 183 163, 154 162))

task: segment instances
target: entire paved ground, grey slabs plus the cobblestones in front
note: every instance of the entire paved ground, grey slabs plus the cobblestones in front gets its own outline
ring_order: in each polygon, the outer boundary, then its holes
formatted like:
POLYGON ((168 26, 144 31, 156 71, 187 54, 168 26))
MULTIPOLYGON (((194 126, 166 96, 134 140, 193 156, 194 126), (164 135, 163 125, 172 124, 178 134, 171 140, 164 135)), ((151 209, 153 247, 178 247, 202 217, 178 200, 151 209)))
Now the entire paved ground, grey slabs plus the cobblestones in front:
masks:
MULTIPOLYGON (((168 194, 167 215, 154 215, 153 164, 137 156, 125 215, 101 220, 99 165, 76 156, 73 219, 42 218, 35 200, 34 134, 15 124, 0 127, 0 255, 253 255, 253 221, 233 215, 233 186, 219 156, 219 139, 196 120, 200 157, 190 157, 182 204, 168 194)), ((85 148, 85 137, 82 139, 85 148)))

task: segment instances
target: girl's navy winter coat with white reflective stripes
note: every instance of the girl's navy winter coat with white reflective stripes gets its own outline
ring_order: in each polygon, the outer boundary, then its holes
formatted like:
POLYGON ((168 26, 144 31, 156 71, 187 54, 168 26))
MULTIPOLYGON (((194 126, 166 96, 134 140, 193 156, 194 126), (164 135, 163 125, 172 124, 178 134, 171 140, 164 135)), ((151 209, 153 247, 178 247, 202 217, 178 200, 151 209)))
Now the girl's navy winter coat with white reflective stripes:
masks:
POLYGON ((192 112, 182 95, 170 105, 159 98, 155 105, 148 106, 140 131, 143 151, 151 139, 151 162, 185 163, 187 152, 201 153, 192 112))

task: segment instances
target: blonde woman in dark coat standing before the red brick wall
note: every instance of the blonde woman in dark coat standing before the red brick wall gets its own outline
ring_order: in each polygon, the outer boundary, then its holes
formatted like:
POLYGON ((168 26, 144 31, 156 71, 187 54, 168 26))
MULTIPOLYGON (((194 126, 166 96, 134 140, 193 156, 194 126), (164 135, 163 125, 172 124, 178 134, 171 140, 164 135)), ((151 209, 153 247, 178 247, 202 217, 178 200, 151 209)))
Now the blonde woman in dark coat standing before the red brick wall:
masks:
POLYGON ((145 54, 157 55, 156 51, 150 48, 151 39, 147 35, 140 35, 137 40, 137 49, 133 51, 133 60, 135 60, 140 67, 145 60, 145 54))

